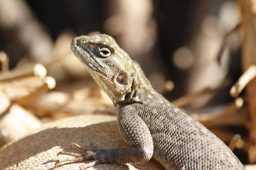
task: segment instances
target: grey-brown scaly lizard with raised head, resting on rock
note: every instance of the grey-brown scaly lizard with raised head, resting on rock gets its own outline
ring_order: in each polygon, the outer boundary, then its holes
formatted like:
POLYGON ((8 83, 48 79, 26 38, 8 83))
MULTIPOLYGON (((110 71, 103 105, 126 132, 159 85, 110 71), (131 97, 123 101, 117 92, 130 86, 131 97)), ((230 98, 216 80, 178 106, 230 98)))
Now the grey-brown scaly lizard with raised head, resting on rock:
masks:
POLYGON ((201 123, 158 94, 137 62, 110 35, 81 35, 71 49, 117 108, 119 132, 128 147, 81 149, 63 164, 139 164, 151 158, 165 169, 244 169, 233 152, 201 123))

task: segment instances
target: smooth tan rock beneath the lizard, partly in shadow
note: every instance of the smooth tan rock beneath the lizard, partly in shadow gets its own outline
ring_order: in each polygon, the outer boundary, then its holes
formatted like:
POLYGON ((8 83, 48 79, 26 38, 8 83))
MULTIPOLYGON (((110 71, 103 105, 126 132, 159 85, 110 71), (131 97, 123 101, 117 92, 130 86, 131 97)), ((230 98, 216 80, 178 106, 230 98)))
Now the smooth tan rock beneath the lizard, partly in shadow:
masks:
MULTIPOLYGON (((69 156, 59 156, 60 151, 75 152, 71 143, 81 147, 92 148, 95 142, 102 149, 125 147, 126 142, 119 134, 117 121, 112 115, 78 115, 63 118, 43 125, 41 130, 23 137, 0 149, 0 169, 54 169, 54 159, 66 159, 69 156)), ((80 169, 84 163, 67 164, 57 169, 80 169)), ((152 159, 145 164, 116 165, 99 164, 92 169, 164 169, 152 159)))

